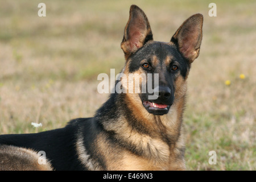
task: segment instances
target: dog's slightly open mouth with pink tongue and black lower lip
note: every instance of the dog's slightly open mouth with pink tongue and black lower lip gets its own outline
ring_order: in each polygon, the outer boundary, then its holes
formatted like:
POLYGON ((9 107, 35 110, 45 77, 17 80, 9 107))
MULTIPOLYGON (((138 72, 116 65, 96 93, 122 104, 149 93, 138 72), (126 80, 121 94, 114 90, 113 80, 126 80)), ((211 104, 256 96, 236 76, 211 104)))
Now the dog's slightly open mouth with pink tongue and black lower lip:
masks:
POLYGON ((170 109, 170 105, 155 103, 150 101, 143 101, 143 106, 146 108, 148 113, 151 113, 154 115, 167 114, 170 109))

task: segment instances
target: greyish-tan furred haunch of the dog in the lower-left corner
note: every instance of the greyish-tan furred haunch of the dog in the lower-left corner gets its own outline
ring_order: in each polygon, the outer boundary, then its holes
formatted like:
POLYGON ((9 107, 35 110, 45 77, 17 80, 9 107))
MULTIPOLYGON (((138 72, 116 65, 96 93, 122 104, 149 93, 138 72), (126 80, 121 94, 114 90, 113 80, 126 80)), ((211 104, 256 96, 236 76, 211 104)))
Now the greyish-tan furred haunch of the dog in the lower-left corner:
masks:
POLYGON ((39 155, 30 149, 0 146, 0 171, 52 171, 51 164, 39 164, 39 155))

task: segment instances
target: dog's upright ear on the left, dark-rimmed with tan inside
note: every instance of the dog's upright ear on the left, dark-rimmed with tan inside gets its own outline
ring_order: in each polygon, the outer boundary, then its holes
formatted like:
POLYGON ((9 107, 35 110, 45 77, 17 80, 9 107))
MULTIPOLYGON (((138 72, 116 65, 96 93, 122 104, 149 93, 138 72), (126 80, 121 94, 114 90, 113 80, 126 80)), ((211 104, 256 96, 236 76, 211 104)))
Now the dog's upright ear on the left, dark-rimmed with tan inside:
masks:
POLYGON ((153 40, 153 35, 147 16, 138 6, 131 5, 130 17, 121 43, 126 60, 132 53, 144 46, 148 40, 153 40))

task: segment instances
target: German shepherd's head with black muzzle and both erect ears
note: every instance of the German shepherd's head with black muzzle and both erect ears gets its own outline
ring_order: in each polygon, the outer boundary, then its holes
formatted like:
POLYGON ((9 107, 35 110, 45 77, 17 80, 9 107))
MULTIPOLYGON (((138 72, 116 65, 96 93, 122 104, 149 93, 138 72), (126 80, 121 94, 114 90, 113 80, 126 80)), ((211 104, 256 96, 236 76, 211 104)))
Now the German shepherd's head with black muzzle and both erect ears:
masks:
MULTIPOLYGON (((126 59, 123 73, 143 75, 132 79, 140 83, 141 92, 132 95, 133 100, 140 101, 137 109, 144 107, 154 115, 167 114, 175 100, 184 96, 189 68, 199 56, 202 26, 203 15, 192 15, 170 42, 155 42, 147 16, 138 6, 130 7, 121 48, 126 59), (143 86, 146 92, 142 92, 143 86), (149 92, 150 88, 153 92, 149 92)), ((127 80, 126 84, 131 85, 131 80, 127 80)))

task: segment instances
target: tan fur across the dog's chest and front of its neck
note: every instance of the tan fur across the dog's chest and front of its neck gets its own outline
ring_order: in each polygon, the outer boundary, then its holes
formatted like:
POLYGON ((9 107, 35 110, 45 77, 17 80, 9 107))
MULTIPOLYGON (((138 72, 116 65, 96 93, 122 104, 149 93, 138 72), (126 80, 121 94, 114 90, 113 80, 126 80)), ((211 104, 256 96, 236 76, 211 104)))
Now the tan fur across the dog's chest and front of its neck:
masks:
MULTIPOLYGON (((157 125, 159 124, 156 121, 157 119, 143 118, 142 121, 150 123, 147 127, 152 130, 151 136, 133 130, 124 118, 122 118, 121 121, 118 121, 117 123, 119 123, 119 125, 115 126, 114 130, 119 134, 119 137, 142 148, 144 150, 144 155, 137 156, 131 154, 129 151, 120 151, 121 154, 119 155, 122 157, 120 156, 119 159, 115 160, 113 160, 113 158, 110 159, 111 155, 105 155, 107 158, 106 161, 110 163, 114 162, 113 164, 110 164, 109 169, 184 170, 185 162, 183 156, 180 158, 180 149, 185 148, 185 140, 181 120, 179 118, 181 116, 181 111, 176 110, 180 109, 181 105, 183 105, 182 102, 177 103, 177 106, 174 106, 174 109, 170 110, 169 114, 158 117, 158 119, 161 120, 160 122, 162 122, 162 129, 157 125), (160 138, 161 133, 166 133, 174 138, 171 146, 160 138), (120 165, 117 165, 117 162, 120 165)), ((133 111, 136 112, 135 110, 133 111)), ((142 112, 146 113, 146 111, 142 112)), ((142 119, 142 117, 139 119, 142 119)), ((102 143, 102 147, 104 145, 106 147, 106 143, 102 143)), ((112 154, 118 156, 115 152, 116 151, 113 151, 112 154)))

